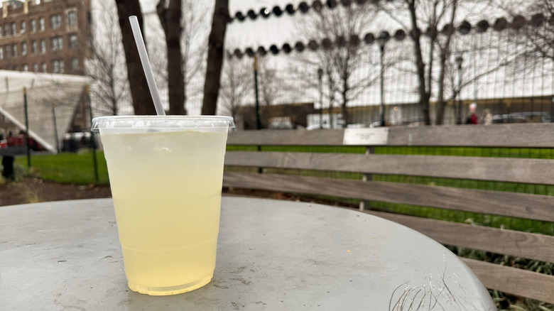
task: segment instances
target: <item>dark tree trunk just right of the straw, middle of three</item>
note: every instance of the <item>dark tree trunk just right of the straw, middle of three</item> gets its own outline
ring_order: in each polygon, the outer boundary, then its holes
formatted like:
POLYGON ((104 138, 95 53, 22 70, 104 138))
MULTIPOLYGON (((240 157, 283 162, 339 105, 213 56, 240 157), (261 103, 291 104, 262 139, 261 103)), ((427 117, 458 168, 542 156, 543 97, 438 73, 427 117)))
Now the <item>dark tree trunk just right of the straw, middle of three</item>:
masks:
POLYGON ((183 115, 185 111, 185 80, 183 78, 183 55, 181 54, 181 0, 160 0, 156 6, 158 17, 165 33, 168 48, 168 95, 169 114, 183 115))

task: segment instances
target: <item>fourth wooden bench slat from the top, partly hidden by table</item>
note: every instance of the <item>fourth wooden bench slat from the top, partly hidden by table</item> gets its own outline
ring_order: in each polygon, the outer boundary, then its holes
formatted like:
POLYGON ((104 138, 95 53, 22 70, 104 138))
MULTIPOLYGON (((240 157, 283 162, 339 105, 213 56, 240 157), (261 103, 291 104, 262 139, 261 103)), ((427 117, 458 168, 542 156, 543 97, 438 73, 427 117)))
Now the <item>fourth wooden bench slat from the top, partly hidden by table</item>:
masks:
MULTIPOLYGON (((441 244, 480 249, 493 253, 554 262, 554 236, 528 232, 472 226, 444 220, 366 211, 419 231, 441 244)), ((554 282, 554 278, 552 279, 554 282)))

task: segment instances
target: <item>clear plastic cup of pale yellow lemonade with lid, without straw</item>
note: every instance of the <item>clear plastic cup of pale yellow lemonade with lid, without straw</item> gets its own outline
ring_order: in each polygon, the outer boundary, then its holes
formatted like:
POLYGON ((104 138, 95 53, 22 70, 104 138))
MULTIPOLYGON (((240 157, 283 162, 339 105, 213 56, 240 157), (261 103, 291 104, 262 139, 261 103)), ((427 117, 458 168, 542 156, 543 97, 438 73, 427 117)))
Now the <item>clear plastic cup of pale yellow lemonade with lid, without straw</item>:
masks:
POLYGON ((174 295, 215 268, 227 116, 102 116, 99 131, 129 288, 174 295))

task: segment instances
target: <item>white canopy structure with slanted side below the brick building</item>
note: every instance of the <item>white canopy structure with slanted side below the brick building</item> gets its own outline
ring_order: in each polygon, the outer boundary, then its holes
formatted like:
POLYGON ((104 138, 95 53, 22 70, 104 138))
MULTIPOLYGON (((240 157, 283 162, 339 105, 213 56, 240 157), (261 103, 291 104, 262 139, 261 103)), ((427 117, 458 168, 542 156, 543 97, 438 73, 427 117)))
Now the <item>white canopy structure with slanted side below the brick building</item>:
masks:
POLYGON ((77 75, 0 70, 0 114, 24 131, 26 88, 29 136, 57 153, 87 83, 87 77, 77 75))

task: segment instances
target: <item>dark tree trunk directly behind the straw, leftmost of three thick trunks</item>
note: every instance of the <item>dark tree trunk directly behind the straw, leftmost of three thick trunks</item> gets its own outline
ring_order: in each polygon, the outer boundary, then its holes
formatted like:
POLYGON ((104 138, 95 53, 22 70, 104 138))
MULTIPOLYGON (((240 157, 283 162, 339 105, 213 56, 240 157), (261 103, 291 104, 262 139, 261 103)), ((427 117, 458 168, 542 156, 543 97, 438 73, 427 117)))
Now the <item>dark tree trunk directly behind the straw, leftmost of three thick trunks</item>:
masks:
POLYGON ((141 65, 139 52, 136 50, 133 31, 131 31, 131 23, 129 23, 129 16, 135 15, 139 20, 139 26, 141 26, 141 29, 143 28, 141 4, 139 0, 116 0, 116 5, 135 114, 155 115, 156 108, 148 90, 148 83, 141 65))

